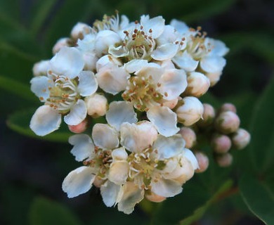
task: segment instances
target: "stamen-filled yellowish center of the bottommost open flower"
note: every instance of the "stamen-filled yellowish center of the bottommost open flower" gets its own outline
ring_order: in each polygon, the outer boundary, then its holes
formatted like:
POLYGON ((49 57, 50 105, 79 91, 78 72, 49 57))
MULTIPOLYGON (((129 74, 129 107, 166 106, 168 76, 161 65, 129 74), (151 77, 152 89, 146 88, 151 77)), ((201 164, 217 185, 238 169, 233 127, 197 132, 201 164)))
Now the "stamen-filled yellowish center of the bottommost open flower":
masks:
POLYGON ((155 150, 147 148, 142 153, 129 155, 129 178, 138 180, 138 184, 145 189, 150 188, 152 173, 158 166, 158 160, 152 157, 155 150))

